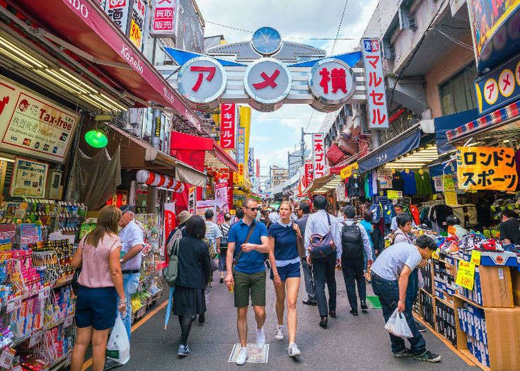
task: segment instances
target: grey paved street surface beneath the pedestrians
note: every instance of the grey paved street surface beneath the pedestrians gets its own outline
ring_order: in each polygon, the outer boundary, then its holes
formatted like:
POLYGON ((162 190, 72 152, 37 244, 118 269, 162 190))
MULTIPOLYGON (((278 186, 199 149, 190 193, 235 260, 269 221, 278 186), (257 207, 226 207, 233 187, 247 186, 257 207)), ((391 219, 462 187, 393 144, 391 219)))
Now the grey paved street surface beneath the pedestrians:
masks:
MULTIPOLYGON (((215 273, 215 277, 217 274, 215 273)), ((246 364, 242 367, 229 363, 228 358, 236 334, 236 310, 233 298, 224 284, 213 284, 210 295, 206 324, 197 322, 192 327, 189 345, 192 354, 179 359, 177 356, 179 324, 177 317, 171 317, 165 331, 165 309, 159 311, 148 322, 132 334, 132 358, 119 370, 478 370, 458 358, 444 343, 426 333, 429 350, 440 353, 440 364, 417 363, 415 360, 398 360, 391 355, 389 339, 383 329, 381 310, 370 310, 367 314, 352 317, 348 313, 345 284, 337 272, 338 298, 337 319, 329 319, 329 328, 318 326, 316 307, 308 307, 299 300, 299 334, 297 343, 303 352, 297 361, 287 355, 287 341, 275 341, 276 314, 275 293, 272 283, 267 280, 267 341, 270 343, 267 364, 246 364)), ((304 298, 302 284, 300 298, 304 298), (303 294, 302 294, 303 293, 303 294)), ((370 290, 371 293, 371 290, 370 290)), ((249 318, 249 340, 254 342, 254 319, 249 318)))

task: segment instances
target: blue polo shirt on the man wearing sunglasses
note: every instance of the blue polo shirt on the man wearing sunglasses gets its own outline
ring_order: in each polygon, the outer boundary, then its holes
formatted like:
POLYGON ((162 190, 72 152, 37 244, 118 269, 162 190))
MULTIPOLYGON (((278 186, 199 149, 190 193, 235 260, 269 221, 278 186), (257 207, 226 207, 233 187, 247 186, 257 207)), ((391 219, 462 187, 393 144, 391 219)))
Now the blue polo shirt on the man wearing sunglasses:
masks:
MULTIPOLYGON (((231 226, 228 234, 228 242, 235 242, 235 257, 240 251, 242 244, 245 241, 245 238, 248 237, 249 225, 245 224, 243 220, 238 220, 235 224, 231 226)), ((260 237, 267 237, 267 228, 265 228, 264 223, 255 223, 255 228, 253 229, 253 233, 249 238, 249 243, 255 245, 262 245, 262 241, 260 237)), ((262 254, 258 251, 251 252, 242 252, 238 262, 235 266, 236 271, 242 273, 258 273, 261 271, 265 271, 265 254, 262 254)))

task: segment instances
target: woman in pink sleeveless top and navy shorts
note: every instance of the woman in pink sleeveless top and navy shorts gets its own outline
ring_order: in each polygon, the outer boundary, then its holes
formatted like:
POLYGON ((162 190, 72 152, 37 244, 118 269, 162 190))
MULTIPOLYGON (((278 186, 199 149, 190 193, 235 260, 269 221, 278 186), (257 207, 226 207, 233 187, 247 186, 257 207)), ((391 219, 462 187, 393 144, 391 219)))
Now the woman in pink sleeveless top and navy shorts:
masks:
POLYGON ((125 290, 120 266, 121 240, 117 223, 121 211, 105 206, 98 216, 96 228, 88 233, 72 258, 71 266, 82 267, 76 301, 77 338, 72 352, 71 371, 80 371, 85 352, 92 343, 92 370, 102 371, 108 331, 115 324, 117 307, 125 312, 125 290), (119 303, 117 302, 119 296, 119 303))

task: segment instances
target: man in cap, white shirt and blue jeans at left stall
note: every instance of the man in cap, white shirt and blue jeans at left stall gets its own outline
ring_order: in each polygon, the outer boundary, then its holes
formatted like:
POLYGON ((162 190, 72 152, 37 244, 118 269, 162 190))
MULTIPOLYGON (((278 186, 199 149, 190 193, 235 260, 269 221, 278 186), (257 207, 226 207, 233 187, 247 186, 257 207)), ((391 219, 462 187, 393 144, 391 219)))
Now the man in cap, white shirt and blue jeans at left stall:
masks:
POLYGON ((136 293, 141 276, 141 258, 144 247, 143 230, 134 220, 135 209, 132 205, 120 207, 121 218, 119 226, 122 228, 119 233, 122 244, 122 258, 120 259, 123 274, 123 287, 125 288, 125 298, 127 300, 127 312, 122 317, 125 328, 127 329, 128 340, 130 339, 132 326, 132 295, 136 293))

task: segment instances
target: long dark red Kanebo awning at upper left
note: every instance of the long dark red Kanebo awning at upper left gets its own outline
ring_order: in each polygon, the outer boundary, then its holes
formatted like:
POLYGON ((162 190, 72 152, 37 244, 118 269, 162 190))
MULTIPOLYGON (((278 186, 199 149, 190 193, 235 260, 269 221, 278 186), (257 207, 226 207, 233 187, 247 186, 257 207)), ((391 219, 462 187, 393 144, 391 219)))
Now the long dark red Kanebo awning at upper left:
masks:
POLYGON ((200 131, 202 122, 95 0, 7 0, 47 31, 95 57, 129 93, 171 107, 200 131), (108 65, 112 64, 112 65, 108 65), (129 67, 130 68, 129 68, 129 67))

